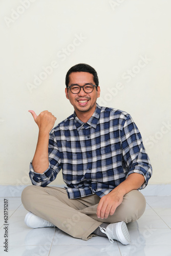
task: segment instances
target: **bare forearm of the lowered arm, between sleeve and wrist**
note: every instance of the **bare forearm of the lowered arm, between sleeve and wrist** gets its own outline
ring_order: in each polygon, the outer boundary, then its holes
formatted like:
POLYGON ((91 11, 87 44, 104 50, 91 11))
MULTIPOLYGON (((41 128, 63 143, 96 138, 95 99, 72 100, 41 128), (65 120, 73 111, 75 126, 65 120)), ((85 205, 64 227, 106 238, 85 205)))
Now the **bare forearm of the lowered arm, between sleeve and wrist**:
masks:
POLYGON ((138 189, 142 186, 145 179, 141 174, 130 174, 123 182, 121 182, 113 191, 117 190, 118 193, 122 196, 129 193, 133 189, 138 189))

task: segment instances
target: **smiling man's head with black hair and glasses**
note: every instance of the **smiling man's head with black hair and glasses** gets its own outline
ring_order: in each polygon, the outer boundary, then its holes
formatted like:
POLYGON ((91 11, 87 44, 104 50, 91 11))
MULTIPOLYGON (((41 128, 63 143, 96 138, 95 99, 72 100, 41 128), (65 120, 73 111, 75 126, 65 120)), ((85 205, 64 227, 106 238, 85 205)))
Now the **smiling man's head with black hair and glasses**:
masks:
POLYGON ((74 106, 76 115, 81 120, 89 119, 96 108, 100 96, 98 76, 95 69, 87 64, 73 66, 66 75, 66 97, 74 106))

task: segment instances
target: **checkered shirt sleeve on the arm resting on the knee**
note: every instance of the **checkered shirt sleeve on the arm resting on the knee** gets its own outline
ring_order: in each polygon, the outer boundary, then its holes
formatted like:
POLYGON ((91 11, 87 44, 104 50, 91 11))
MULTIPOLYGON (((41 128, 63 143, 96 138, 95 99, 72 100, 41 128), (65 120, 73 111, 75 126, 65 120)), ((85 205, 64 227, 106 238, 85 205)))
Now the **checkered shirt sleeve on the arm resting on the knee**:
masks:
POLYGON ((152 165, 142 143, 141 134, 129 115, 121 131, 122 154, 128 167, 126 178, 133 173, 143 175, 145 182, 139 189, 146 187, 152 176, 152 165))

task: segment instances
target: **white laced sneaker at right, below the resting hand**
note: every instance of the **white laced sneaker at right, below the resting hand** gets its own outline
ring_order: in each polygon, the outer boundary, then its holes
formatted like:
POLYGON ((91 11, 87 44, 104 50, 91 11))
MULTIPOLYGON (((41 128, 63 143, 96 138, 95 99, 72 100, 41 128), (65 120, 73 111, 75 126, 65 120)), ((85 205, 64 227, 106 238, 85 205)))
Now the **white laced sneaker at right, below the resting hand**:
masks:
POLYGON ((121 221, 118 223, 109 224, 106 228, 101 228, 102 233, 106 234, 111 243, 114 243, 114 240, 121 242, 122 244, 130 244, 130 234, 127 230, 126 223, 121 221))

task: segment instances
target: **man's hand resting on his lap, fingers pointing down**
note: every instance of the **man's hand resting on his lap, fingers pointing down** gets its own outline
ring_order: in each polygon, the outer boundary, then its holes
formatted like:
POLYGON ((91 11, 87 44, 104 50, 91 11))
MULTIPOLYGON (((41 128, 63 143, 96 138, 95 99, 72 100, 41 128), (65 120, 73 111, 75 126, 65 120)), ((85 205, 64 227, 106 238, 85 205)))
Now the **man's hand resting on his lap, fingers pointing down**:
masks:
POLYGON ((106 219, 109 215, 113 215, 122 201, 123 195, 114 188, 108 195, 105 195, 100 199, 97 206, 97 217, 106 219))

